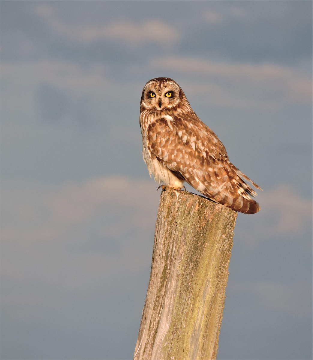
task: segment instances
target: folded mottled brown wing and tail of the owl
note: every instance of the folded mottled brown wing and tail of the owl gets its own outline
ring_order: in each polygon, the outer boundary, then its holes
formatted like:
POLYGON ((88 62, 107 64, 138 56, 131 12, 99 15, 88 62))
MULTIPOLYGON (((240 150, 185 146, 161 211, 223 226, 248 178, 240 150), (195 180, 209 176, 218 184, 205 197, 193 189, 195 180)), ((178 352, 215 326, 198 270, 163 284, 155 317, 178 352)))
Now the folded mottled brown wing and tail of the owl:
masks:
POLYGON ((251 198, 256 193, 242 177, 251 180, 229 162, 222 142, 195 114, 154 121, 148 127, 147 145, 162 165, 211 200, 236 211, 259 211, 251 198))

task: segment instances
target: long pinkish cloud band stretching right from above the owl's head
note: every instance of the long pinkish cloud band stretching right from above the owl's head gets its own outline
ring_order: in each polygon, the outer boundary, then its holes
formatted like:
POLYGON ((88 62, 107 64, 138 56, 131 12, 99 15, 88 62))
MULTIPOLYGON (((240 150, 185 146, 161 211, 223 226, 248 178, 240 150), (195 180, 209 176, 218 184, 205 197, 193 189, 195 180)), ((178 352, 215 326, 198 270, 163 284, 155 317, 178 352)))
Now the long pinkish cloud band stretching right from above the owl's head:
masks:
MULTIPOLYGON (((150 59, 148 68, 182 74, 195 84, 193 93, 209 92, 216 105, 276 109, 286 104, 309 105, 312 81, 304 69, 270 63, 227 63, 201 57, 170 56, 150 59), (207 84, 199 84, 207 79, 207 84), (208 85, 209 84, 209 85, 208 85)), ((189 90, 190 91, 190 90, 189 90)))

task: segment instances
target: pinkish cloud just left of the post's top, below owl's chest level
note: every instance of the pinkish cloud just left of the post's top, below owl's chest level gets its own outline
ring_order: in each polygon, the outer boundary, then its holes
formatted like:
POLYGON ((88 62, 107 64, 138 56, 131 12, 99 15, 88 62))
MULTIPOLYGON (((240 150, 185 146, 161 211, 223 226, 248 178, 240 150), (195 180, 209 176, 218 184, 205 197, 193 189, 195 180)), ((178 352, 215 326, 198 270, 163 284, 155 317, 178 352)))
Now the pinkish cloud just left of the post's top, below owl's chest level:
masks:
MULTIPOLYGON (((131 224, 140 229, 142 226, 146 228, 147 223, 151 222, 149 194, 156 188, 152 181, 137 182, 124 177, 100 177, 82 184, 64 185, 57 193, 49 195, 47 204, 55 218, 64 224, 80 223, 84 219, 92 221, 101 217, 100 213, 104 208, 109 208, 116 215, 129 210, 131 224)), ((117 216, 113 225, 116 225, 117 230, 125 231, 126 224, 121 224, 120 221, 121 217, 117 216)), ((155 220, 152 220, 152 223, 153 221, 155 220)))

